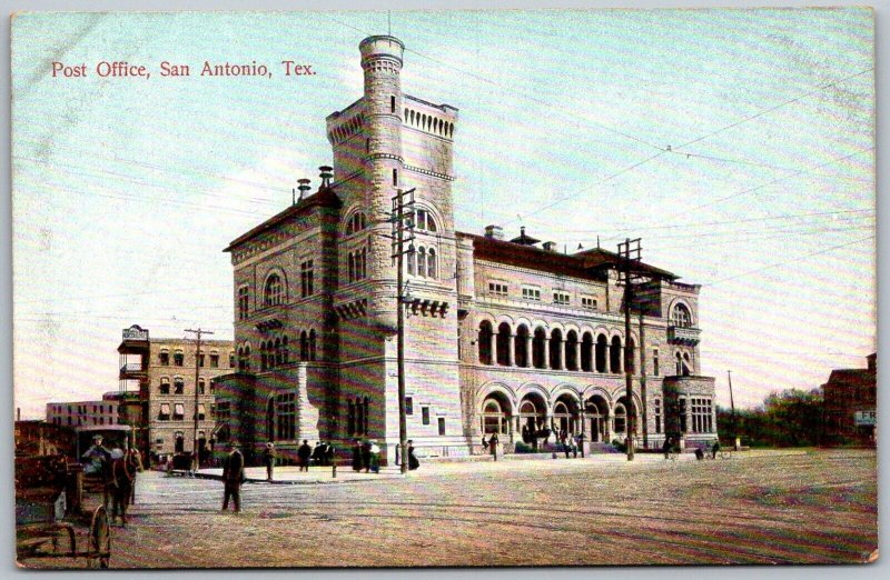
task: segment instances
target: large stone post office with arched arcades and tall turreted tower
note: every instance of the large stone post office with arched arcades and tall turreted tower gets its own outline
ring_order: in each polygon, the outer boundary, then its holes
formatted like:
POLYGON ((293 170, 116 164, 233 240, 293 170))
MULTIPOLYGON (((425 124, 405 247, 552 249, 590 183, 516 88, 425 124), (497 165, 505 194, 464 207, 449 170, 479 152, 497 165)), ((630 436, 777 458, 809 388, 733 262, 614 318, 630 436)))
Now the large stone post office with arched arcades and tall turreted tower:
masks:
MULTIPOLYGON (((359 46, 365 94, 327 118, 332 168, 317 192, 234 240, 238 372, 218 380, 219 424, 248 443, 293 452, 299 440, 398 441, 396 267, 387 214, 415 189, 408 280, 408 437, 421 456, 506 451, 530 430, 622 438, 716 437, 714 380, 700 376, 699 286, 637 264, 650 281, 624 333, 622 260, 602 249, 558 253, 523 230, 455 231, 457 109, 402 92, 404 46, 359 46), (641 326, 642 320, 642 326, 641 326), (632 401, 624 349, 633 352, 632 401), (645 372, 645 381, 643 377, 645 372), (645 382, 645 387, 643 386, 645 382)), ((551 438, 552 440, 552 438, 551 438)))

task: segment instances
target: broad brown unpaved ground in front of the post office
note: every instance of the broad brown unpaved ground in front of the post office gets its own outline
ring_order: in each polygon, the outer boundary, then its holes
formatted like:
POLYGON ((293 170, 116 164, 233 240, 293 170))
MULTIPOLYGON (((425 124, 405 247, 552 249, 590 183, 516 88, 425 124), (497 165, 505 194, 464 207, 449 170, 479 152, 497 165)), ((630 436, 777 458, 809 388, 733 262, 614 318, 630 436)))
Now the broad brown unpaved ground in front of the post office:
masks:
POLYGON ((219 482, 144 473, 111 564, 861 562, 878 542, 876 463, 873 451, 814 451, 424 464, 406 479, 246 484, 238 516, 220 512, 219 482))

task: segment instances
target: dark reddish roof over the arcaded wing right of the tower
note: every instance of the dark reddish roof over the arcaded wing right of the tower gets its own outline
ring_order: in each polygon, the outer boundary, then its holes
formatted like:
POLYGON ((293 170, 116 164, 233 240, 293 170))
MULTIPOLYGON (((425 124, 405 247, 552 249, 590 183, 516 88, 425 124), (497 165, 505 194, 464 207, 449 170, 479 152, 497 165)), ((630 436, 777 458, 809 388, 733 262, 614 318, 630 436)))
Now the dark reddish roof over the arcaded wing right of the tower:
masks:
MULTIPOLYGON (((605 270, 619 268, 623 263, 621 256, 599 248, 566 254, 525 243, 477 236, 475 233, 457 232, 457 234, 473 240, 475 258, 511 266, 534 268, 536 270, 573 276, 576 278, 602 279, 605 270)), ((678 278, 666 270, 655 268, 644 262, 634 262, 633 268, 635 271, 645 272, 659 278, 666 278, 669 280, 675 280, 678 278)))

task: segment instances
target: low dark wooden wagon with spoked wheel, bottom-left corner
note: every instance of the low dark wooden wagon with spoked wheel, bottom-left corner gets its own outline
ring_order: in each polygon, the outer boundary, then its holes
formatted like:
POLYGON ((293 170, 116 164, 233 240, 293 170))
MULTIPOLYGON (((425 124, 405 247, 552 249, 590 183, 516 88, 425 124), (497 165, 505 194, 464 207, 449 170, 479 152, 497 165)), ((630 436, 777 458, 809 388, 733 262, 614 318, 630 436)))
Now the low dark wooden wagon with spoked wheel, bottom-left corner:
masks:
POLYGON ((75 524, 70 522, 23 523, 17 527, 16 532, 19 560, 83 558, 87 568, 108 568, 111 560, 111 528, 102 506, 92 512, 87 536, 79 541, 75 524), (78 543, 82 549, 78 549, 78 543))

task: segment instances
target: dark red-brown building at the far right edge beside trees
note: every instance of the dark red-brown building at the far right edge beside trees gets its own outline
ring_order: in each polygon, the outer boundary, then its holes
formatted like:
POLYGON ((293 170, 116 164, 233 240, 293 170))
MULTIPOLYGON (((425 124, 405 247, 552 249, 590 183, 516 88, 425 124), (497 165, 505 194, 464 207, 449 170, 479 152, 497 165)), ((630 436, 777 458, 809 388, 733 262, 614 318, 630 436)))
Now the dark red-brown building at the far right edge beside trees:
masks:
POLYGON ((876 443, 878 429, 878 353, 864 369, 831 371, 822 386, 825 444, 876 443))

